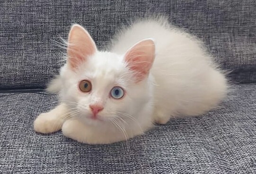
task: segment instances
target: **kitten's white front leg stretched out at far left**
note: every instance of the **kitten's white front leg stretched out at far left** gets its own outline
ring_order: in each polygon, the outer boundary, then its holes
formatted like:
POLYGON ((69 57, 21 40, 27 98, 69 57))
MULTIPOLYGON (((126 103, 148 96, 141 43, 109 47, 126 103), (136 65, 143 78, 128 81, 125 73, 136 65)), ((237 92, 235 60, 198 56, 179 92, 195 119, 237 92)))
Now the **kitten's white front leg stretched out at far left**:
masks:
POLYGON ((64 103, 49 112, 42 113, 34 121, 34 130, 38 133, 53 133, 61 130, 68 109, 64 103))

